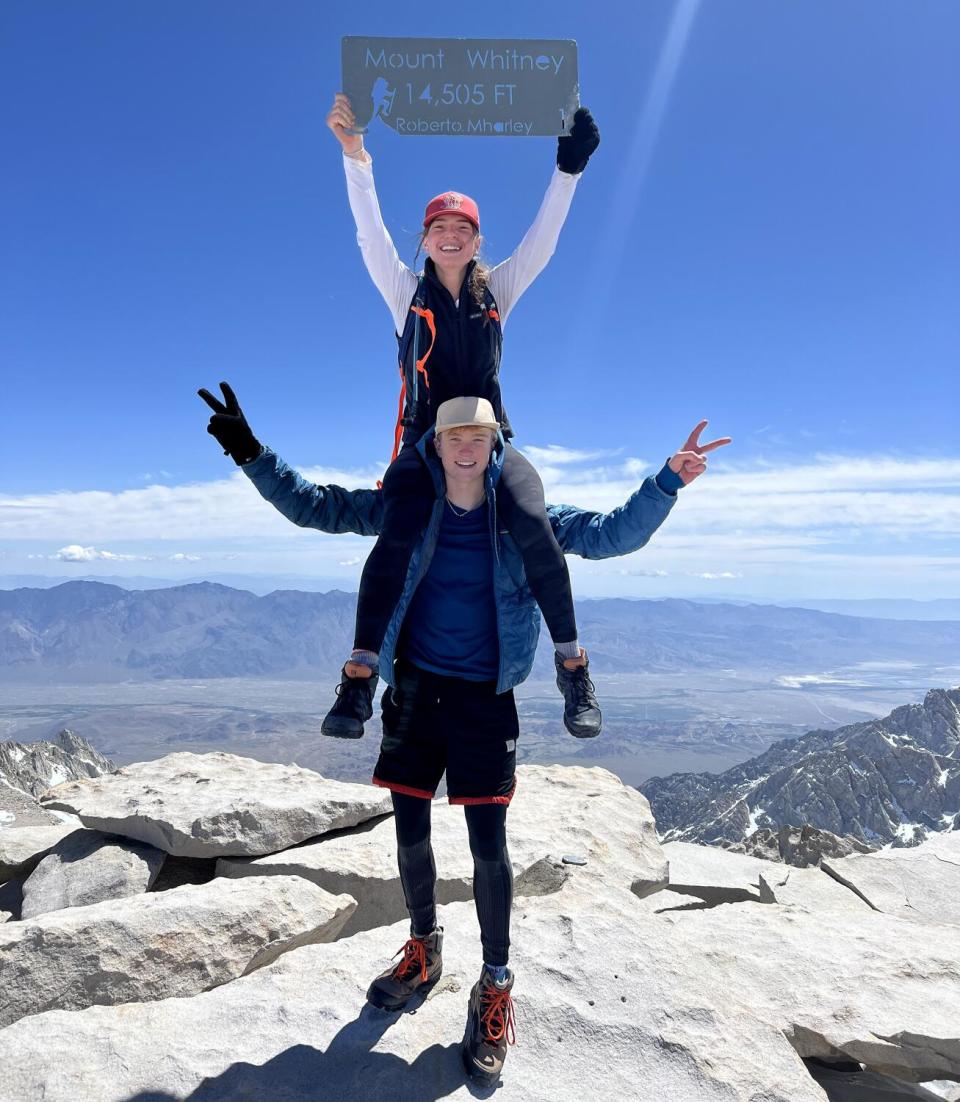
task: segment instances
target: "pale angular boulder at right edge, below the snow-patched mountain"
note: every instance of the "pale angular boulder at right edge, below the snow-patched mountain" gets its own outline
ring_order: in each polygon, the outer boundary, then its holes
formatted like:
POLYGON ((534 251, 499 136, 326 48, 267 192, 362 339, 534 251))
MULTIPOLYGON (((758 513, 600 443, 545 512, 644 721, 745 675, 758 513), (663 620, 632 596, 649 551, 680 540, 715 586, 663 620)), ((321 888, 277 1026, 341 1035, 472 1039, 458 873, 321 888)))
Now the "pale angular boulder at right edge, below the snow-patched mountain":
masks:
POLYGON ((823 869, 884 914, 960 926, 960 833, 934 835, 910 849, 824 861, 823 869))

